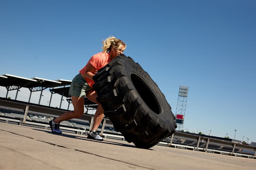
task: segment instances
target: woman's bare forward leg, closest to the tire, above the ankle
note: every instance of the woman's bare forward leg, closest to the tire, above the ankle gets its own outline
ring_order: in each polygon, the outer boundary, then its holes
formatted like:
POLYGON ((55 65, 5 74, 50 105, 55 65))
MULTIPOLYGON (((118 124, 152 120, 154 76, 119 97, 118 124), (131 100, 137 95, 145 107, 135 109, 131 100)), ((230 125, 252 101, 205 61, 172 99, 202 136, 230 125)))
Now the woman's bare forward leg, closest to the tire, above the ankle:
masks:
POLYGON ((95 112, 95 115, 94 115, 94 121, 93 121, 93 124, 92 124, 92 131, 94 129, 98 129, 98 127, 100 126, 100 122, 102 121, 103 117, 104 117, 104 110, 102 108, 102 106, 100 105, 100 103, 97 102, 96 98, 97 98, 97 93, 94 91, 94 90, 90 90, 86 93, 86 97, 97 103, 98 104, 98 108, 95 112))

